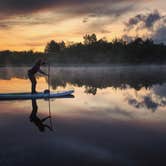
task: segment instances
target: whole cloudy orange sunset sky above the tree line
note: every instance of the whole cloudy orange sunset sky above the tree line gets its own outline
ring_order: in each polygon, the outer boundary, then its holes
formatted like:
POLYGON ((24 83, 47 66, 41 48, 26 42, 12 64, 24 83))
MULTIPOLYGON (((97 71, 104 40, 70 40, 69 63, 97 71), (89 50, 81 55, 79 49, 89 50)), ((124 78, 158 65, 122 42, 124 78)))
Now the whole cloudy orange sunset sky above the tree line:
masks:
POLYGON ((0 50, 44 51, 85 34, 166 43, 165 0, 0 0, 0 50))

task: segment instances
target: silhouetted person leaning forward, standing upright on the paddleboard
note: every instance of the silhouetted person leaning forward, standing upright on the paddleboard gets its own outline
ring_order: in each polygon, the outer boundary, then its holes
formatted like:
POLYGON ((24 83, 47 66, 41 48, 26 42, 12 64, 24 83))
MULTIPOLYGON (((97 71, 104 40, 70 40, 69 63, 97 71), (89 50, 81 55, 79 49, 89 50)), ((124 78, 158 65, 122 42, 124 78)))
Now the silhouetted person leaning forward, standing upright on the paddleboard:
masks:
POLYGON ((32 84, 32 86, 31 86, 31 92, 32 92, 32 94, 37 93, 37 92, 36 92, 36 84, 37 84, 37 81, 36 81, 35 74, 36 74, 37 72, 39 72, 39 73, 41 73, 41 74, 44 74, 44 75, 48 76, 48 74, 46 74, 44 71, 42 71, 42 70, 40 69, 40 67, 41 67, 42 65, 45 65, 45 64, 46 64, 46 63, 45 63, 45 60, 44 60, 44 59, 39 59, 39 60, 35 63, 35 65, 34 65, 30 70, 28 70, 28 77, 29 77, 29 79, 30 79, 30 81, 31 81, 31 84, 32 84))

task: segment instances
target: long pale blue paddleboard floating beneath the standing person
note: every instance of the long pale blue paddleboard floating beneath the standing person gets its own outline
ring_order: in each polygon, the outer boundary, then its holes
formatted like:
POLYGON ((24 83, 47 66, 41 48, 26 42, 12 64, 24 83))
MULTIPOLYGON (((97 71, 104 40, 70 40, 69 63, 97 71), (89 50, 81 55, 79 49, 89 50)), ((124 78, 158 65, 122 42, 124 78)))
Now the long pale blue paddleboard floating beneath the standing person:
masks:
POLYGON ((0 100, 24 100, 24 99, 47 99, 47 98, 72 98, 74 90, 50 92, 31 93, 0 93, 0 100))

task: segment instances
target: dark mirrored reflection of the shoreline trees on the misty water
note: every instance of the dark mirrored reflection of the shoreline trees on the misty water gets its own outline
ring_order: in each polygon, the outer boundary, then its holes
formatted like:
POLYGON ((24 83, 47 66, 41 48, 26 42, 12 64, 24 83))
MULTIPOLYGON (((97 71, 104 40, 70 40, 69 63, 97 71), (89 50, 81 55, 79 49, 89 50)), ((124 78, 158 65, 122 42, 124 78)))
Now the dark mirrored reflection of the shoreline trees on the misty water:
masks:
MULTIPOLYGON (((51 86, 65 87, 67 83, 85 86, 86 93, 95 94, 97 88, 114 87, 125 89, 130 86, 136 90, 150 88, 166 82, 166 67, 55 67, 51 68, 51 86)), ((1 68, 0 78, 27 78, 28 68, 1 68)))

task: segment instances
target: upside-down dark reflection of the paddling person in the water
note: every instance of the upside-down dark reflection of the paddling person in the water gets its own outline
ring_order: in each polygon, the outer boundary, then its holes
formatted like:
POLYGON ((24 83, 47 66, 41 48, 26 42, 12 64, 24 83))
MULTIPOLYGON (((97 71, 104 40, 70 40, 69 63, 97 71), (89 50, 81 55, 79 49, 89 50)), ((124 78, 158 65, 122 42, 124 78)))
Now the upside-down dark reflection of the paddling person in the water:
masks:
POLYGON ((48 129, 50 129, 50 131, 52 131, 52 127, 43 123, 45 120, 47 120, 48 118, 51 118, 51 117, 48 116, 48 117, 45 117, 43 119, 40 119, 37 116, 37 110, 38 110, 38 106, 36 103, 36 99, 32 99, 32 112, 31 112, 31 115, 29 117, 30 121, 33 122, 41 132, 44 132, 45 128, 48 128, 48 129))

